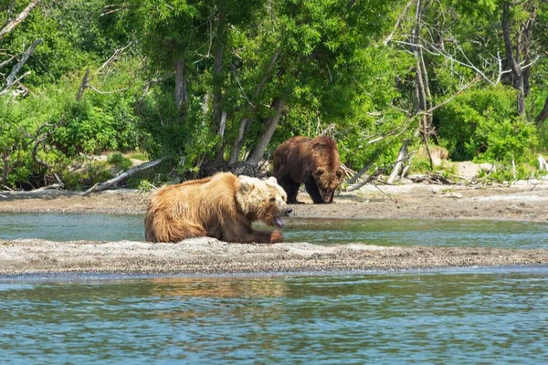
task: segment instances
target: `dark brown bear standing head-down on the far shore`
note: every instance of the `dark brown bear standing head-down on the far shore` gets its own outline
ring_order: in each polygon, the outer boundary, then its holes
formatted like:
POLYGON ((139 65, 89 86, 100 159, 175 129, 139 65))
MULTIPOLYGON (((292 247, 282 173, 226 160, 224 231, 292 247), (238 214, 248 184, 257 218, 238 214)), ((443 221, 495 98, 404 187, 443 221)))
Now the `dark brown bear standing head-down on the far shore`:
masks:
POLYGON ((314 203, 332 203, 343 172, 337 143, 321 135, 313 140, 295 136, 274 151, 274 176, 288 193, 288 203, 297 201, 301 183, 314 203))

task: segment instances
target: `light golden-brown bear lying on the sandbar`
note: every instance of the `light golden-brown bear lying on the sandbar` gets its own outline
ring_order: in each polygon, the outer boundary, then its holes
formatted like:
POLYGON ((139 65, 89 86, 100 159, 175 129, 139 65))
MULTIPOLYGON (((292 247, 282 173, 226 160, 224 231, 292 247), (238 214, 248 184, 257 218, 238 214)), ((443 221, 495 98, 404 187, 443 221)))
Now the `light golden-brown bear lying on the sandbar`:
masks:
POLYGON ((267 181, 221 172, 179 183, 153 193, 144 217, 146 240, 178 242, 191 237, 215 237, 240 243, 276 243, 279 230, 255 231, 254 221, 282 228, 289 215, 287 195, 273 177, 267 181))

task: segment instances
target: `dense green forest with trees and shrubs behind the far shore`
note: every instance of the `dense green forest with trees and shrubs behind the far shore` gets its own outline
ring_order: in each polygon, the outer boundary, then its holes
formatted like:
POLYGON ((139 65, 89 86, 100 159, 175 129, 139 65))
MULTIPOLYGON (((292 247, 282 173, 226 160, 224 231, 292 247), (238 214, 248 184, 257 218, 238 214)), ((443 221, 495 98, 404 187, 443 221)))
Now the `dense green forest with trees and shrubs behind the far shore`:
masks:
POLYGON ((351 182, 448 160, 542 173, 544 0, 0 0, 0 189, 258 173, 328 133, 351 182), (82 169, 81 166, 86 166, 82 169))

